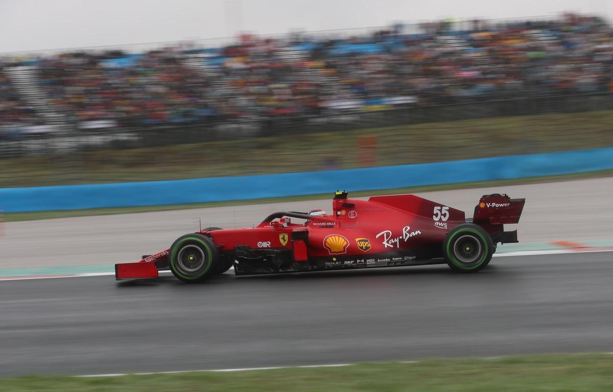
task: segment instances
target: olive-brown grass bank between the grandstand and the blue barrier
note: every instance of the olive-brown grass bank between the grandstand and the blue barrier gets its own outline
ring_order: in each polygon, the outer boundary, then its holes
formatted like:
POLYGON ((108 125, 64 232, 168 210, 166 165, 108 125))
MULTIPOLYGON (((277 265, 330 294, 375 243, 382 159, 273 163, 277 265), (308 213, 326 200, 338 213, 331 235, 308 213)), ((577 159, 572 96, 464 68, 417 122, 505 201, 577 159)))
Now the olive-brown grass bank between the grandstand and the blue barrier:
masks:
MULTIPOLYGON (((314 126, 309 133, 0 159, 0 187, 197 179, 585 150, 613 146, 611 129, 613 110, 342 132, 321 132, 314 126), (370 148, 360 142, 375 139, 370 148)), ((207 126, 200 129, 202 134, 209 131, 207 126)))

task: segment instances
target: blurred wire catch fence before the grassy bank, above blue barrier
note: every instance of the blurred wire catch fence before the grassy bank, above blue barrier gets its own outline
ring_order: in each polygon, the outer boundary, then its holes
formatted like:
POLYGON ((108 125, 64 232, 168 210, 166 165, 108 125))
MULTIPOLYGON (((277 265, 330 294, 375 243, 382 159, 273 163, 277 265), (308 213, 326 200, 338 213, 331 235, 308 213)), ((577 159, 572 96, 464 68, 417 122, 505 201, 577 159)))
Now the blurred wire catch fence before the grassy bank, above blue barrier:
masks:
POLYGON ((613 94, 0 139, 0 187, 431 163, 613 147, 613 94))

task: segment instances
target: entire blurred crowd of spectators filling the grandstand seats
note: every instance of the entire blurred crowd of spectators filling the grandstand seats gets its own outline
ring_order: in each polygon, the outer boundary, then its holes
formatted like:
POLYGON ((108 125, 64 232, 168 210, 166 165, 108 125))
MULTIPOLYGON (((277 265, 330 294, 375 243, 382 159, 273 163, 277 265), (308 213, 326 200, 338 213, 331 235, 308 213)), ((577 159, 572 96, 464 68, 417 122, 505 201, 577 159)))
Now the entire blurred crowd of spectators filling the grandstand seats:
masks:
MULTIPOLYGON (((73 52, 36 64, 51 107, 81 128, 613 92, 613 29, 598 17, 420 29, 242 36, 221 48, 73 52)), ((24 108, 0 72, 0 123, 28 117, 24 108)))

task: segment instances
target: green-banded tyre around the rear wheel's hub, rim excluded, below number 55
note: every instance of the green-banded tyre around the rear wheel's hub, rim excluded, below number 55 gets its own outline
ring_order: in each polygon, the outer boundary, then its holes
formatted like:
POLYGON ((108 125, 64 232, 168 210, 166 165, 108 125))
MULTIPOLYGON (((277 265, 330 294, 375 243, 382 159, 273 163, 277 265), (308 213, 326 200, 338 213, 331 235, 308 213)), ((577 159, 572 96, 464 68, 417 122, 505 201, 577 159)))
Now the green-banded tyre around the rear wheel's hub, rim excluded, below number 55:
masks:
POLYGON ((492 237, 490 237, 489 233, 485 231, 481 226, 474 225, 473 223, 465 223, 463 225, 457 226, 452 231, 447 234, 444 242, 443 242, 443 256, 445 261, 449 267, 454 269, 455 271, 460 272, 476 272, 487 266, 492 259, 493 255, 493 243, 492 237), (478 240, 479 244, 481 244, 482 252, 479 257, 479 261, 474 263, 473 265, 467 266, 465 263, 462 263, 454 253, 454 245, 455 242, 462 236, 470 235, 474 239, 478 240))

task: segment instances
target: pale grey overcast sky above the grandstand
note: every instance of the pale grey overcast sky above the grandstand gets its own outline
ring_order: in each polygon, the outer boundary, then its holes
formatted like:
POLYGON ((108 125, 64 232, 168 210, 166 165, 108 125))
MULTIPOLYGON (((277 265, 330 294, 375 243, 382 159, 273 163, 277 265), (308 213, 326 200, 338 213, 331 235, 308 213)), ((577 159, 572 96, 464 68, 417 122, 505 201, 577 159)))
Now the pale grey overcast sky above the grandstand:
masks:
POLYGON ((598 13, 611 21, 613 1, 0 0, 0 53, 563 11, 598 13))

